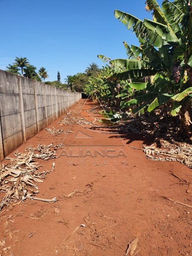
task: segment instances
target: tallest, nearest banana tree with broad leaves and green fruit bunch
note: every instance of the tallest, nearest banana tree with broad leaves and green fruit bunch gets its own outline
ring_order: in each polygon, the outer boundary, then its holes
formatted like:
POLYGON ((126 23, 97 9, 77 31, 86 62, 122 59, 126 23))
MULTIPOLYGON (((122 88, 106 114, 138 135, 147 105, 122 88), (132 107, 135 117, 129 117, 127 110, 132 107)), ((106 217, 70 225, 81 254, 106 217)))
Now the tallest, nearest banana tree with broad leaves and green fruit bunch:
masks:
POLYGON ((192 96, 192 0, 163 0, 162 9, 156 0, 146 3, 146 10, 153 12, 153 20, 140 20, 115 10, 115 17, 136 34, 140 46, 130 47, 124 43, 131 59, 111 61, 117 67, 124 65, 124 70, 116 68, 108 79, 116 81, 158 74, 154 86, 145 89, 145 95, 136 99, 137 110, 151 112, 170 102, 170 114, 179 113, 182 126, 191 137, 188 102, 192 96), (155 92, 158 83, 163 83, 163 88, 155 92))

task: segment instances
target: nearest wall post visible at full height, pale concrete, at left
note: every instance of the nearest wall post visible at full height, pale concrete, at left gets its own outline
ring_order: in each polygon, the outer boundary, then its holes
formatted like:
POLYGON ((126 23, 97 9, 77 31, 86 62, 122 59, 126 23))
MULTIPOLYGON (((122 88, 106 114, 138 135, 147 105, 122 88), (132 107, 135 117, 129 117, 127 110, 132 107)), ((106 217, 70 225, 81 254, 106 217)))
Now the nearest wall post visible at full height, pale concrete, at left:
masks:
POLYGON ((21 85, 21 77, 17 76, 17 80, 18 80, 18 89, 19 89, 21 129, 22 129, 22 135, 23 135, 23 142, 26 143, 25 116, 24 116, 24 107, 23 107, 23 92, 22 92, 22 85, 21 85))

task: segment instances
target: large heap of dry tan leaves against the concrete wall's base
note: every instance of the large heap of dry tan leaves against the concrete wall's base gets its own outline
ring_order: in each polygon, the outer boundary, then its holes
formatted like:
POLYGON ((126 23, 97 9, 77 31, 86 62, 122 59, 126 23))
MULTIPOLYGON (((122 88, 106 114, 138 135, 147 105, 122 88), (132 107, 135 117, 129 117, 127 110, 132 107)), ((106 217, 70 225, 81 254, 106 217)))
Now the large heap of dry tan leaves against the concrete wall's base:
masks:
MULTIPOLYGON (((38 163, 35 162, 36 158, 44 160, 52 159, 56 157, 55 150, 51 150, 52 144, 41 145, 37 148, 31 146, 26 148, 27 153, 15 152, 16 158, 7 157, 6 160, 10 160, 8 164, 0 165, 0 192, 5 193, 0 200, 0 211, 5 206, 9 206, 11 203, 18 204, 24 201, 26 198, 32 198, 41 200, 41 198, 34 198, 32 195, 38 193, 38 183, 43 182, 42 179, 46 178, 47 173, 50 171, 39 171, 38 163), (36 154, 35 151, 40 152, 36 154)), ((44 201, 55 201, 55 198, 44 199, 44 201)))

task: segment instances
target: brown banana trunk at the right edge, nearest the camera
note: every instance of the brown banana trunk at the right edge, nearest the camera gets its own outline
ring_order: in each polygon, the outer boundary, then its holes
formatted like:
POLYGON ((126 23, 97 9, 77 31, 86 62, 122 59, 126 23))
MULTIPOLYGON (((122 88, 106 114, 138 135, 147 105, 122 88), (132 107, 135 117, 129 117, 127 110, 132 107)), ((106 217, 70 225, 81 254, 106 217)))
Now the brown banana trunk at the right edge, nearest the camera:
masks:
POLYGON ((182 131, 184 131, 185 134, 190 138, 190 140, 192 140, 192 122, 189 114, 189 108, 189 103, 183 104, 180 109, 179 115, 182 131))

